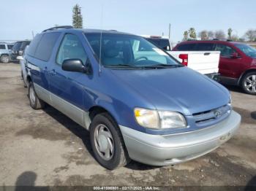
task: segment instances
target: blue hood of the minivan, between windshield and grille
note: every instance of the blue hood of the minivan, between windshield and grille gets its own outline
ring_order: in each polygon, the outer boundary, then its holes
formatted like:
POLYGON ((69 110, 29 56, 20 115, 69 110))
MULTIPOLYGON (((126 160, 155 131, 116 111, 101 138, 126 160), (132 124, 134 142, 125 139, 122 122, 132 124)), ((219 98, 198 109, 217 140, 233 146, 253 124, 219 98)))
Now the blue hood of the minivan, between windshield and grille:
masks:
POLYGON ((216 109, 230 99, 225 87, 187 67, 111 72, 158 110, 191 115, 216 109))

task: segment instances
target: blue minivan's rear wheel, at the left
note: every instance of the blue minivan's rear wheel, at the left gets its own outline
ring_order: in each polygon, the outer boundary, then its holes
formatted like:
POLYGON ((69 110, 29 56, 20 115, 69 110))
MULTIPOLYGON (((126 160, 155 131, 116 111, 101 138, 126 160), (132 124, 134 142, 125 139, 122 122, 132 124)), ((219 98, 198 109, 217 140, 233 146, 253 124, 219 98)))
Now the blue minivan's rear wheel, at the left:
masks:
POLYGON ((33 109, 42 109, 45 107, 45 102, 37 97, 33 82, 29 82, 29 104, 33 109))

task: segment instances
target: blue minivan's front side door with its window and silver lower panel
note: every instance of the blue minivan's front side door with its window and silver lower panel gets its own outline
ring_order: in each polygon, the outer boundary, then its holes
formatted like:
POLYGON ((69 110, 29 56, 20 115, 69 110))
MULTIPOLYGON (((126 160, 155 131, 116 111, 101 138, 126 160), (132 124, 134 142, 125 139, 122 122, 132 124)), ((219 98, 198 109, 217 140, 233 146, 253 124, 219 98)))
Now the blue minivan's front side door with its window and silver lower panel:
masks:
POLYGON ((61 65, 66 59, 80 59, 86 63, 87 55, 75 34, 65 34, 50 69, 50 92, 52 104, 72 120, 83 125, 83 84, 86 74, 64 71, 61 65))

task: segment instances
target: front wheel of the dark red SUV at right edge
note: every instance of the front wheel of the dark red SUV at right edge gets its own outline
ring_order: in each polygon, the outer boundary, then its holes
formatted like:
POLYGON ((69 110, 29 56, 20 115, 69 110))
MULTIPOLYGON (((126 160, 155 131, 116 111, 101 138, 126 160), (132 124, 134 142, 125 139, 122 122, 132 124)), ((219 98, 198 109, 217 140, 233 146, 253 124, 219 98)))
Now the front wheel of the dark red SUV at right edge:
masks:
POLYGON ((246 93, 256 95, 256 71, 252 71, 244 75, 241 80, 241 87, 246 93))

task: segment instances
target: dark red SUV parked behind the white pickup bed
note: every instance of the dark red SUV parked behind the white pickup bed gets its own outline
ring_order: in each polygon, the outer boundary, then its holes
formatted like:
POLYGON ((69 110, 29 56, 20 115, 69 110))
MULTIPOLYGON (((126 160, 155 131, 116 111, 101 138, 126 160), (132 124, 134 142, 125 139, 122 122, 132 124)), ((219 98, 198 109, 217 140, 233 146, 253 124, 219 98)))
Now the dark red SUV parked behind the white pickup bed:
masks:
POLYGON ((256 95, 255 48, 240 42, 202 40, 181 42, 173 50, 220 51, 220 82, 239 85, 246 93, 256 95))

